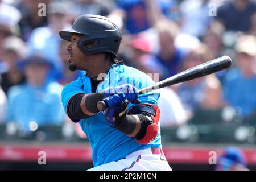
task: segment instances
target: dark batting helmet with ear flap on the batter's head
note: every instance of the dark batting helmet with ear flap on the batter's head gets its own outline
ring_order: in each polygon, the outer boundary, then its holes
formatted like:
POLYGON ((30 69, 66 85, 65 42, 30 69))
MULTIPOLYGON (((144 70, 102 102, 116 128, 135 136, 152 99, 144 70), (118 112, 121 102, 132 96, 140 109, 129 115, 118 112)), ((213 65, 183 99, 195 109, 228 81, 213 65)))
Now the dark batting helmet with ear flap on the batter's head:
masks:
POLYGON ((77 42, 77 47, 86 53, 110 52, 115 57, 121 42, 121 32, 118 27, 108 18, 100 15, 81 15, 72 25, 71 30, 60 31, 60 37, 71 41, 73 34, 80 34, 82 37, 77 42), (92 48, 86 47, 87 43, 93 42, 92 48))

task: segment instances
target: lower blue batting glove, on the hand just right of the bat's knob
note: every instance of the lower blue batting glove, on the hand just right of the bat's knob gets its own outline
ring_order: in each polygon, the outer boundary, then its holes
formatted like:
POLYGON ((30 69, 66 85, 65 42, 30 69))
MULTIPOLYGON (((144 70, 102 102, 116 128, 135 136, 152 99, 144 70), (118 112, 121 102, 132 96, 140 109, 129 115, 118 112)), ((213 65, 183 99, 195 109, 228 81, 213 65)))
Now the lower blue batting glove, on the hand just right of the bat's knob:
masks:
POLYGON ((108 105, 108 108, 104 111, 106 121, 110 126, 115 127, 115 121, 122 117, 127 109, 125 95, 123 93, 113 94, 112 96, 104 98, 103 101, 108 105))

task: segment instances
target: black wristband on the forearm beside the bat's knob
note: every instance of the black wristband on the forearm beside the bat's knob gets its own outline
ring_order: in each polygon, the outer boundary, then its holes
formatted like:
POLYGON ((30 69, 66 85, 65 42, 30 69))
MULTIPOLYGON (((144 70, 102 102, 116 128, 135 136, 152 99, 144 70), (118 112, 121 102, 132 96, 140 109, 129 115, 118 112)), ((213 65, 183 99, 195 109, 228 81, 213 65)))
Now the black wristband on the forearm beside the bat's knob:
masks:
POLYGON ((91 93, 85 99, 85 107, 91 113, 98 113, 100 112, 97 108, 98 101, 101 101, 104 98, 102 93, 91 93))

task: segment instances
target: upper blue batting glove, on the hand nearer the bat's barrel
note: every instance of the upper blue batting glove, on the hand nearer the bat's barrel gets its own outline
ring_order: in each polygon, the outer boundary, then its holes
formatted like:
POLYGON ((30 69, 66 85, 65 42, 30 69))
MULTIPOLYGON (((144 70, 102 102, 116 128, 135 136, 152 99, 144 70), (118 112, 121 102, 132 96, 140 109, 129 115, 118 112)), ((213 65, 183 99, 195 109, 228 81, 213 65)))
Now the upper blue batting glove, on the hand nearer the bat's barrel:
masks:
POLYGON ((138 97, 139 97, 138 89, 131 84, 123 84, 117 87, 106 88, 104 90, 103 96, 109 97, 109 96, 112 96, 113 94, 118 94, 118 93, 123 93, 125 98, 133 104, 140 103, 138 100, 138 97))

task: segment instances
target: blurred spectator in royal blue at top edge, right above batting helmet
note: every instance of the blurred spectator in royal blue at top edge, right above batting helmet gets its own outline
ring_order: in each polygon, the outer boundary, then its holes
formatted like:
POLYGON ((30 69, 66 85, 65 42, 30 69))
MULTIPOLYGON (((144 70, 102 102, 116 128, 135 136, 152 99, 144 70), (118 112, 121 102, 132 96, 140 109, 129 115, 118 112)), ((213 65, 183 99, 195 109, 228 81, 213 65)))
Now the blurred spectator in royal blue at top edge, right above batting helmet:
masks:
POLYGON ((160 16, 171 17, 176 1, 164 0, 123 0, 118 2, 118 9, 110 14, 110 19, 130 34, 137 34, 153 27, 160 16))

